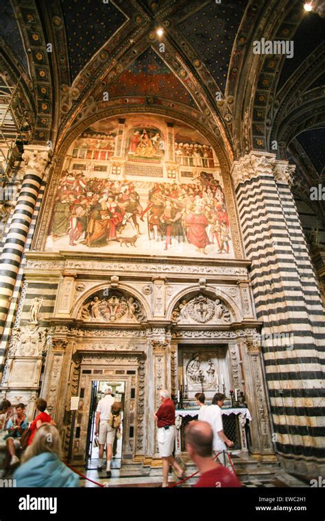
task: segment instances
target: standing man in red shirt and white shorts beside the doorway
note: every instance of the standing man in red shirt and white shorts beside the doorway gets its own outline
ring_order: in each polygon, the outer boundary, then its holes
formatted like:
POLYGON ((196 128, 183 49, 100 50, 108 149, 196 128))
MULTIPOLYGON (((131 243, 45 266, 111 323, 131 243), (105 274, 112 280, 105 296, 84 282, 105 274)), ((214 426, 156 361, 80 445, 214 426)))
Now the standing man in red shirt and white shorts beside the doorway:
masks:
POLYGON ((168 487, 168 473, 169 465, 176 470, 176 476, 179 479, 184 478, 184 470, 178 465, 176 459, 173 457, 173 448, 175 445, 176 427, 175 427, 175 405, 169 392, 166 389, 161 389, 159 392, 161 405, 154 414, 157 420, 158 427, 158 448, 160 458, 163 461, 163 487, 168 487))

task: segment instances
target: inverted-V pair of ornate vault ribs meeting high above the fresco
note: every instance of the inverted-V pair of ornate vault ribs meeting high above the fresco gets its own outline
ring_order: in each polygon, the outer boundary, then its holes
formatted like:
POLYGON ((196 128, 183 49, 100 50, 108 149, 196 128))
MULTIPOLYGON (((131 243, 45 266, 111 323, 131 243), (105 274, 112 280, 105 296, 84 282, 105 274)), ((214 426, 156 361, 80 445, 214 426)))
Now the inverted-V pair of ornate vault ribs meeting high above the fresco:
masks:
MULTIPOLYGON (((213 76, 204 65, 200 56, 189 42, 184 38, 173 25, 173 34, 169 35, 168 27, 171 22, 166 20, 166 33, 164 38, 165 52, 159 51, 160 41, 152 30, 152 22, 156 24, 156 19, 143 10, 143 5, 139 1, 134 1, 134 8, 138 10, 138 16, 134 18, 134 13, 130 11, 130 5, 123 5, 123 12, 130 16, 113 35, 108 42, 99 49, 75 78, 71 93, 77 93, 71 98, 69 109, 62 118, 60 134, 66 134, 71 122, 80 115, 80 108, 86 110, 89 100, 95 101, 98 95, 102 96, 103 89, 108 90, 110 85, 115 82, 128 66, 132 64, 143 52, 152 47, 158 56, 165 62, 171 72, 176 75, 184 88, 189 91, 198 108, 206 116, 210 117, 211 123, 220 132, 228 155, 232 157, 231 132, 226 124, 224 111, 221 110, 215 101, 215 93, 219 92, 219 86, 213 76), (121 40, 123 36, 123 40, 121 40), (117 45, 119 43, 119 45, 117 45)), ((160 16, 172 16, 180 9, 186 9, 184 0, 178 0, 166 8, 160 10, 160 16)), ((188 110, 191 108, 188 106, 188 110)))

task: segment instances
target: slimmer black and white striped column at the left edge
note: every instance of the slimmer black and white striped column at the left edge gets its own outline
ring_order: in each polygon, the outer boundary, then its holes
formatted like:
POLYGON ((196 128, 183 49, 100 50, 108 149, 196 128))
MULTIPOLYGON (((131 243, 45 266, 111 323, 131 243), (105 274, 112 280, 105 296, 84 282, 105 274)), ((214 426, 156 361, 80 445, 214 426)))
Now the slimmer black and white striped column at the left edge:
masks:
MULTIPOLYGON (((24 147, 23 160, 25 161, 25 175, 21 184, 21 191, 16 202, 14 215, 10 222, 7 237, 1 254, 0 272, 0 335, 3 333, 5 320, 14 284, 21 265, 25 250, 29 226, 32 221, 40 184, 43 180, 45 168, 49 162, 49 149, 33 145, 24 147)), ((3 364, 3 353, 0 355, 0 365, 3 364)))

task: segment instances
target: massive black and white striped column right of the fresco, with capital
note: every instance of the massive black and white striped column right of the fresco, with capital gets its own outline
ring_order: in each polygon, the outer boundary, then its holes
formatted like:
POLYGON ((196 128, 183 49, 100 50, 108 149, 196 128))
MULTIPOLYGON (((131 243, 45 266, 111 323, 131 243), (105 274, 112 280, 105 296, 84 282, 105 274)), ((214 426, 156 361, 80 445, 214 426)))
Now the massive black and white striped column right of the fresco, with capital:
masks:
POLYGON ((324 463, 324 309, 288 185, 291 165, 251 152, 234 162, 245 253, 258 319, 274 441, 282 463, 320 472, 324 463))

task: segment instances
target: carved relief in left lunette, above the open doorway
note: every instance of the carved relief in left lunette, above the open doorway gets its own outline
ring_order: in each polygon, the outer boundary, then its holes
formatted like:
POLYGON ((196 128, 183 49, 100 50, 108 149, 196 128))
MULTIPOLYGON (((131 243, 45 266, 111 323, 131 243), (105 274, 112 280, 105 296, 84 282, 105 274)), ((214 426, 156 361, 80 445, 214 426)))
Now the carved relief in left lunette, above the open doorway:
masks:
POLYGON ((79 318, 94 322, 138 323, 145 320, 145 313, 140 302, 134 297, 106 289, 88 298, 88 302, 80 309, 79 318), (108 298, 101 298, 101 295, 108 298))

